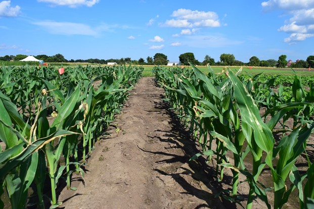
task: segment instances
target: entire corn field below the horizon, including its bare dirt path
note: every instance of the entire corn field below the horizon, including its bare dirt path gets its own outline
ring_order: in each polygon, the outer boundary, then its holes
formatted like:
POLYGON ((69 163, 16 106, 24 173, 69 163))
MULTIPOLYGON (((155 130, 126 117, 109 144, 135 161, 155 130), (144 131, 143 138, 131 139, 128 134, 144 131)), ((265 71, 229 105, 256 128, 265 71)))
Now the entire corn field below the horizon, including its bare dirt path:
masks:
POLYGON ((312 71, 51 65, 0 74, 0 208, 314 207, 312 71), (151 78, 140 86, 141 77, 151 78))

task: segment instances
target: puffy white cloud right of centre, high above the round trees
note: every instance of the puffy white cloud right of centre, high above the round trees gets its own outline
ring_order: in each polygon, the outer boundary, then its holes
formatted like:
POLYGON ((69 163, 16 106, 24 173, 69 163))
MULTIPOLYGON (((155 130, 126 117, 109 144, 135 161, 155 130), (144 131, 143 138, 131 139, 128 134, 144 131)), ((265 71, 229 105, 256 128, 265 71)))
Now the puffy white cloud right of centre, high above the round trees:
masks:
POLYGON ((215 12, 192 11, 178 9, 172 12, 175 19, 166 20, 161 26, 165 27, 219 27, 220 22, 215 12))

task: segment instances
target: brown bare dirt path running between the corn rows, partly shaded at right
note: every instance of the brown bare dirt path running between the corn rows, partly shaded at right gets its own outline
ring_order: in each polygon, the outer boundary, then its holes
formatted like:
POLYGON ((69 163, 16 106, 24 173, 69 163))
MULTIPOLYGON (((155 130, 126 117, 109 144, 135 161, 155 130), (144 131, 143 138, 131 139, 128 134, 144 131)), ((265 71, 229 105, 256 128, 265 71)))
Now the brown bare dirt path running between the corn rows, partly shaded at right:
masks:
POLYGON ((76 179, 76 191, 63 190, 61 207, 224 208, 211 171, 188 162, 198 147, 170 117, 162 93, 153 78, 139 81, 88 160, 85 184, 76 179))

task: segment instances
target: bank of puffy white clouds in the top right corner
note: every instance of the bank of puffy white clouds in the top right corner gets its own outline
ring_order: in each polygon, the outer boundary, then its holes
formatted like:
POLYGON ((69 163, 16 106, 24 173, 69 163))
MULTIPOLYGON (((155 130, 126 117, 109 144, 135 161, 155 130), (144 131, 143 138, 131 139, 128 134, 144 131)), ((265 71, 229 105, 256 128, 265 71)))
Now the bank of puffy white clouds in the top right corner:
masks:
POLYGON ((261 6, 264 11, 282 10, 291 17, 278 29, 290 34, 285 42, 304 41, 314 36, 314 0, 270 0, 261 6))

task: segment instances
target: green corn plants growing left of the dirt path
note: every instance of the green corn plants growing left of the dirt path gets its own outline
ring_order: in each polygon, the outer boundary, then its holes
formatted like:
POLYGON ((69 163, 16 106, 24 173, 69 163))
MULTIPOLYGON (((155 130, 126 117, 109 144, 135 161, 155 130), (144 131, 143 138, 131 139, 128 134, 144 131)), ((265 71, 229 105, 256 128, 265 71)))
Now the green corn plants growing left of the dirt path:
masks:
POLYGON ((75 189, 72 173, 83 176, 86 157, 142 71, 78 66, 60 75, 55 67, 2 67, 0 196, 7 193, 12 208, 25 208, 30 198, 40 208, 47 199, 51 208, 59 206, 58 182, 66 179, 67 188, 75 189))

